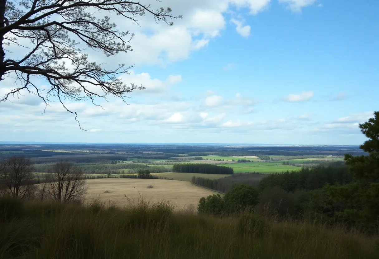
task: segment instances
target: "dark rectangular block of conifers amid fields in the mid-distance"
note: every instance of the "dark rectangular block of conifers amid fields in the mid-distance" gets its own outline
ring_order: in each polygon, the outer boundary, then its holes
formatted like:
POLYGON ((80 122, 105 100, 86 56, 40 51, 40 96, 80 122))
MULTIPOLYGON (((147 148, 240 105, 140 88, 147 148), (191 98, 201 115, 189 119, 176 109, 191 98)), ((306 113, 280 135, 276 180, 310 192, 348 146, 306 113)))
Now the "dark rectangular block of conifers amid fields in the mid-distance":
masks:
POLYGON ((232 175, 233 168, 210 164, 174 164, 172 172, 175 173, 210 173, 218 175, 232 175))

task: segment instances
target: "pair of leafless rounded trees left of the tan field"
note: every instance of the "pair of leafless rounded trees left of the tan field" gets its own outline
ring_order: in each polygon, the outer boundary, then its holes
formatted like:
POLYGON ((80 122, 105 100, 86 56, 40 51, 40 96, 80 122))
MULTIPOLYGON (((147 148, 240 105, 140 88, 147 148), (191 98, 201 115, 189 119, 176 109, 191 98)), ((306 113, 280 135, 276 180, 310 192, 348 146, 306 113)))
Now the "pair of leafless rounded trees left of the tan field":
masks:
POLYGON ((0 165, 0 193, 14 198, 36 198, 69 202, 80 199, 87 188, 81 170, 67 161, 53 165, 53 173, 45 183, 36 186, 34 166, 30 158, 14 156, 0 165))

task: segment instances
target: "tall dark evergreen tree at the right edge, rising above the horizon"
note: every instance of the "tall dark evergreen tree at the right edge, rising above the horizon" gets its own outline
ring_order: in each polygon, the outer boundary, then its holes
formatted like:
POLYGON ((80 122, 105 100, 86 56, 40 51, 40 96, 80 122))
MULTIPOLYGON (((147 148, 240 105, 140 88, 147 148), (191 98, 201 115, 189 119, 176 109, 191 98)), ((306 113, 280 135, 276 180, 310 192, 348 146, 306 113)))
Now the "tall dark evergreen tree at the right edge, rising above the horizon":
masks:
POLYGON ((379 112, 359 128, 368 140, 360 148, 368 156, 345 154, 345 162, 354 177, 350 184, 330 186, 330 195, 335 201, 345 203, 345 208, 338 212, 355 224, 368 228, 379 221, 379 112))

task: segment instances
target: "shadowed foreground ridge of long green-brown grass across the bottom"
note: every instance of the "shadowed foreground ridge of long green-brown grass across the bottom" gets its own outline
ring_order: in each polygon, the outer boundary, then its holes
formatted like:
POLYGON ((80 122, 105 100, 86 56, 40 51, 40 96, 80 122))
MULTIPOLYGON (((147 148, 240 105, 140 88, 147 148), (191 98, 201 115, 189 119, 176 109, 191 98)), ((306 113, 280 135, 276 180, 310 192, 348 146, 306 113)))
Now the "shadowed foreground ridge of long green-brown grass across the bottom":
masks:
POLYGON ((262 228, 251 214, 175 214, 167 202, 140 200, 126 211, 99 201, 86 208, 9 200, 0 205, 1 258, 379 257, 377 240, 356 232, 265 219, 262 228))

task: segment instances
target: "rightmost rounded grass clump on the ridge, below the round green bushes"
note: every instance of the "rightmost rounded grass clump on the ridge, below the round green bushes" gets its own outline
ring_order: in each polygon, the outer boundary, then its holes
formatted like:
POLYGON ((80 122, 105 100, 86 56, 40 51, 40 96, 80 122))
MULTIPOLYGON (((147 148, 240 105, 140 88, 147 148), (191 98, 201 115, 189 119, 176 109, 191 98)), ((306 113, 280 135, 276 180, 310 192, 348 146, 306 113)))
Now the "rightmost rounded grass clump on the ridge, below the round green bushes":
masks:
POLYGON ((245 212, 238 218, 237 229, 242 236, 262 237, 269 231, 269 222, 251 212, 245 212))

